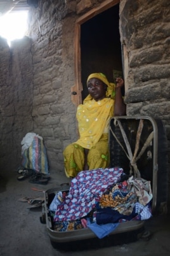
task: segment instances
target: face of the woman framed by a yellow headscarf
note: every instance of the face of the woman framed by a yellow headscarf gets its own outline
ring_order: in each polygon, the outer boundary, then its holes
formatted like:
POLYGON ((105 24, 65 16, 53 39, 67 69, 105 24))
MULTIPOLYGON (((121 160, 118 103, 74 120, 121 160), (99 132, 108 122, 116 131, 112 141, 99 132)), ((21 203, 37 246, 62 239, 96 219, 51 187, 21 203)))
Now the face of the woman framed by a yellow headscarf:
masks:
POLYGON ((98 78, 88 80, 88 91, 95 101, 100 101, 106 96, 107 85, 98 78))

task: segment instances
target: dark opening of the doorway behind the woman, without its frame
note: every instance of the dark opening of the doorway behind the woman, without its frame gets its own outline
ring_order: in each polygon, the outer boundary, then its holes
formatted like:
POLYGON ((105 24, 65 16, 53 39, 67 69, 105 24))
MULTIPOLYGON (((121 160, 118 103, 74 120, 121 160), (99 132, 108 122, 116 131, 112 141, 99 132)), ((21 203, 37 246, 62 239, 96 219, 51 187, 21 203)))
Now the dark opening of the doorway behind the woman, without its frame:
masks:
POLYGON ((114 82, 114 69, 122 71, 119 4, 81 25, 82 100, 88 95, 86 80, 89 74, 101 72, 109 82, 114 82))

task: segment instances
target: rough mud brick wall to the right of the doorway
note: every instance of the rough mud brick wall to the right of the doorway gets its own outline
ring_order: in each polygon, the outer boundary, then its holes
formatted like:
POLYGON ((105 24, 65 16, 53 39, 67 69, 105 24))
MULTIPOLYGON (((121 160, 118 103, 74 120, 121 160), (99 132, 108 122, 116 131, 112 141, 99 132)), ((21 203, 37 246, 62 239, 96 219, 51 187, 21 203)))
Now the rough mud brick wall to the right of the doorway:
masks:
POLYGON ((120 32, 125 49, 127 115, 162 120, 170 159, 169 7, 166 0, 122 0, 120 32))

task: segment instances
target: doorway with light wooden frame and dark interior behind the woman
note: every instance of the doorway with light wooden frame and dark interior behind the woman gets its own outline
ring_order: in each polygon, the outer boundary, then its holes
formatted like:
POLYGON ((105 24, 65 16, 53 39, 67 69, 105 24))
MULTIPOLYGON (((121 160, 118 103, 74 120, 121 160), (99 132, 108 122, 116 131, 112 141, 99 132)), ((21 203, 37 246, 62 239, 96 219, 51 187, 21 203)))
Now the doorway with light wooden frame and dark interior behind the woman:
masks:
POLYGON ((119 34, 120 0, 106 0, 75 22, 75 85, 72 103, 82 104, 88 95, 86 80, 90 73, 105 73, 114 82, 113 71, 124 73, 119 34))

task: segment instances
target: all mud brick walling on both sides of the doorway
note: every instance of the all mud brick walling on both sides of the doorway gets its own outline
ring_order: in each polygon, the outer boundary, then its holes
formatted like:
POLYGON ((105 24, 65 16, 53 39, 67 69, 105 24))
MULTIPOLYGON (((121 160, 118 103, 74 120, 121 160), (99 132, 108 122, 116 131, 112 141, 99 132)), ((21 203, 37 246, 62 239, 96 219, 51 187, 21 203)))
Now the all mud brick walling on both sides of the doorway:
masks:
MULTIPOLYGON (((36 132, 44 138, 50 169, 63 173, 63 149, 78 136, 70 92, 75 21, 103 2, 41 0, 30 9, 29 37, 11 48, 1 40, 1 167, 9 157, 20 164, 20 141, 36 132)), ((121 0, 119 28, 127 115, 162 119, 170 141, 169 6, 166 0, 121 0)))

